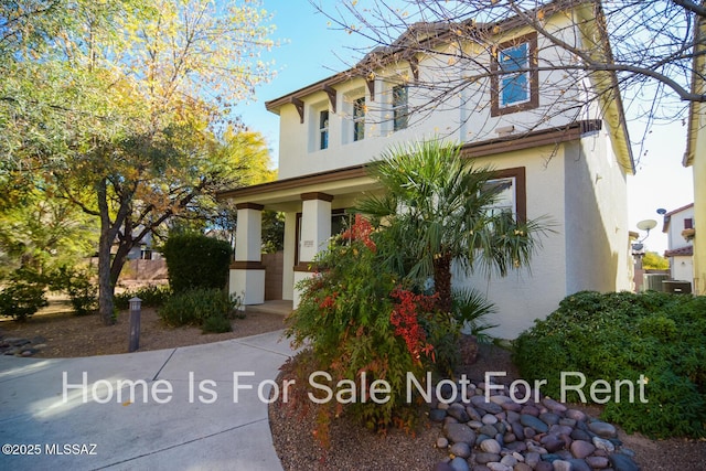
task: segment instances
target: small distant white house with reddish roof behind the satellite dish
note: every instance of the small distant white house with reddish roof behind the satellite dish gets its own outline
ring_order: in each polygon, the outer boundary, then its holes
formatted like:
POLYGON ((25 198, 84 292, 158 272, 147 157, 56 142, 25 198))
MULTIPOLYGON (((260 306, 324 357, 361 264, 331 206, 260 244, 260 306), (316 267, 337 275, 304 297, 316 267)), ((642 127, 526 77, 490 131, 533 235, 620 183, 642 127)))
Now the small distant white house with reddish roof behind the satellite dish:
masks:
POLYGON ((670 278, 694 281, 694 203, 664 215, 662 232, 667 235, 668 249, 664 257, 670 260, 670 278))

